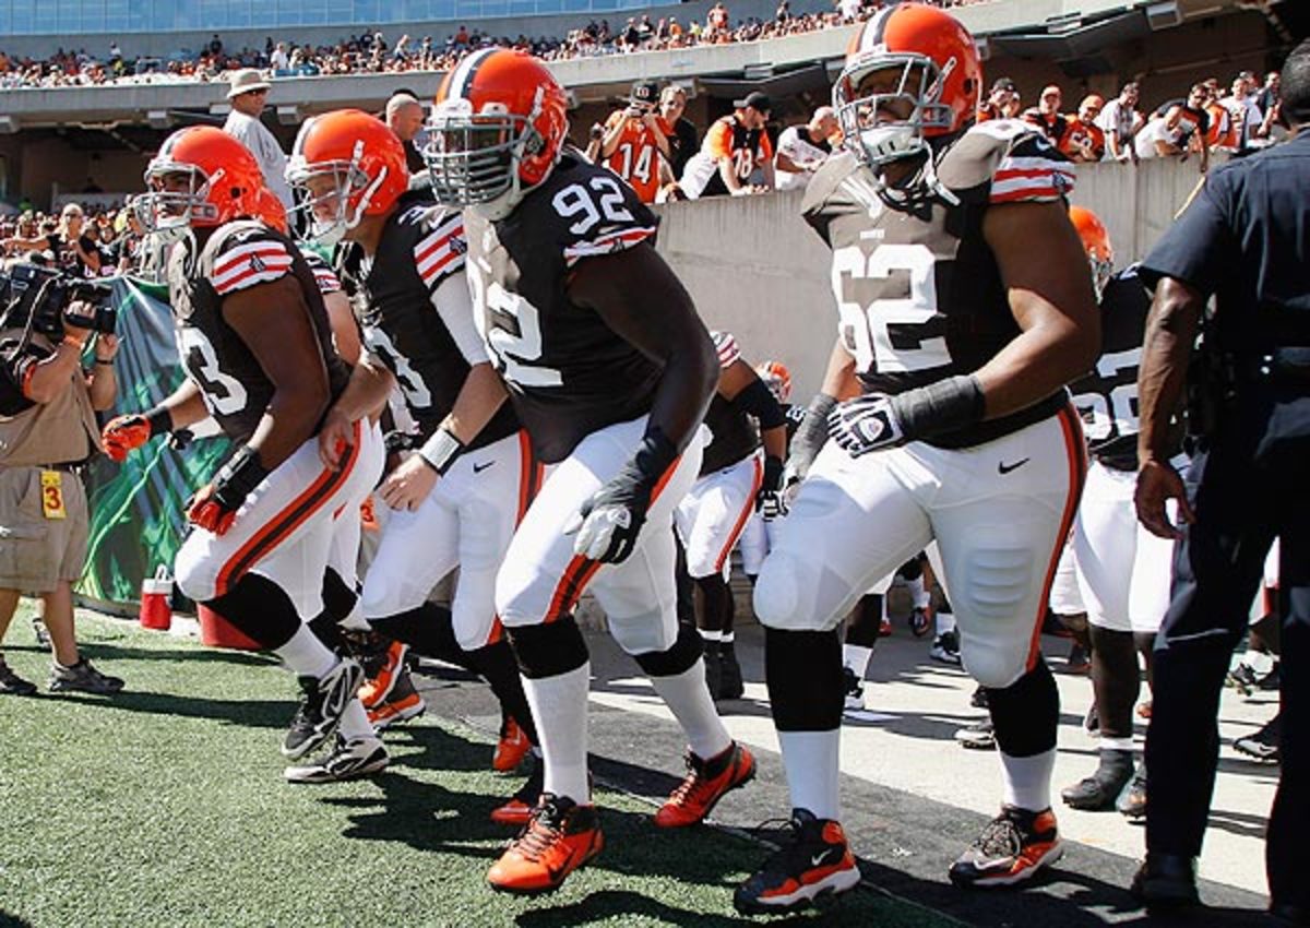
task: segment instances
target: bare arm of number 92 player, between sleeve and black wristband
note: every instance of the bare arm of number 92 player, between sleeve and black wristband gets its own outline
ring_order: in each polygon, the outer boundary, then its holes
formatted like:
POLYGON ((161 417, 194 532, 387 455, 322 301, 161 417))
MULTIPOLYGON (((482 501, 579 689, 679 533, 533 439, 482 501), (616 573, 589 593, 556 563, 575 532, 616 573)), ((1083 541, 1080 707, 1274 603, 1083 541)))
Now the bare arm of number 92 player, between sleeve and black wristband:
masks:
POLYGON ((659 429, 679 451, 685 448, 705 418, 719 364, 683 283, 654 246, 642 244, 580 262, 569 296, 664 366, 648 429, 659 429))

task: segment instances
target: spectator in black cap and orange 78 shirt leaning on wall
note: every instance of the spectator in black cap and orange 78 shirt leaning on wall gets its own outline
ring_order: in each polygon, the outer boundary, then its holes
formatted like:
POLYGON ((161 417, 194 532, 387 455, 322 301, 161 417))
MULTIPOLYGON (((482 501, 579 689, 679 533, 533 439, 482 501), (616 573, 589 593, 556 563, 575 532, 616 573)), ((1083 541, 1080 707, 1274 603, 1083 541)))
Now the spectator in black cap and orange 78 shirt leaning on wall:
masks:
POLYGON ((689 199, 723 193, 741 197, 774 186, 773 143, 764 131, 773 104, 766 94, 755 90, 734 106, 736 110, 731 115, 710 126, 701 151, 686 163, 679 187, 689 199), (751 184, 756 168, 764 173, 764 184, 758 186, 751 184))

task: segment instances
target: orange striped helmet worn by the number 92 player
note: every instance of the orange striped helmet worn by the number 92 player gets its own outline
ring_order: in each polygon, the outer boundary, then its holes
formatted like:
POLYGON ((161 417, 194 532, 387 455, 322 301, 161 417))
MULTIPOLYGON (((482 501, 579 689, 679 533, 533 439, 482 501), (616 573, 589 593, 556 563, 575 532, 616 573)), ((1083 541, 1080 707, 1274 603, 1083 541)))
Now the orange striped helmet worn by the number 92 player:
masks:
POLYGON ((538 59, 512 48, 466 55, 436 90, 423 149, 439 203, 510 214, 559 160, 567 97, 538 59))

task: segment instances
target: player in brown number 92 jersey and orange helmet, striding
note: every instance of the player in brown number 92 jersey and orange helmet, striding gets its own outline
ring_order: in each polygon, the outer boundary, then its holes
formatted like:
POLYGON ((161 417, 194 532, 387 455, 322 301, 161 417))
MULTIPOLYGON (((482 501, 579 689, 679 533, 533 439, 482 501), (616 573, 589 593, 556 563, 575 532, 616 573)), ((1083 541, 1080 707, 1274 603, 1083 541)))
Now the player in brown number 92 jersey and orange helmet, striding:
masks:
POLYGON ((590 655, 572 617, 588 587, 686 735, 689 773, 655 823, 694 824, 755 775, 675 609, 672 514, 700 469, 714 345, 655 252, 655 216, 566 149, 566 130, 550 71, 487 48, 441 83, 427 148, 438 201, 465 207, 482 338, 555 465, 496 575, 546 764, 532 821, 487 874, 511 893, 557 887, 604 844, 587 780, 590 655))

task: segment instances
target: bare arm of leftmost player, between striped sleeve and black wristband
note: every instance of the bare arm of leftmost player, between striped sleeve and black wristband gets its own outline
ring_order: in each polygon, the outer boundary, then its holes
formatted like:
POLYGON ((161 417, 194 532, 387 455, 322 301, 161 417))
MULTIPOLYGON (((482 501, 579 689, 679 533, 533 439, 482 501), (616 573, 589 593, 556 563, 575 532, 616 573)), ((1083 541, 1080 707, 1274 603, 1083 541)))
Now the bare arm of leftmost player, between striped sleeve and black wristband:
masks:
POLYGON ((286 275, 232 294, 223 319, 259 362, 274 395, 248 446, 274 469, 304 444, 328 410, 328 370, 300 282, 286 275), (276 308, 276 312, 270 312, 276 308))

